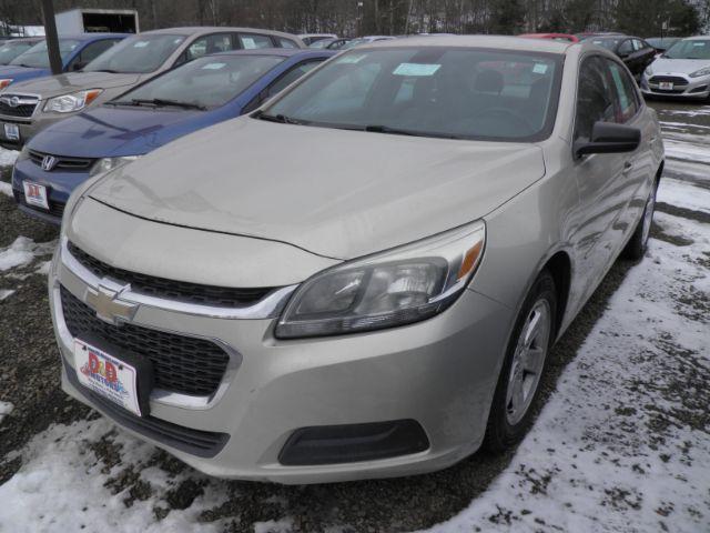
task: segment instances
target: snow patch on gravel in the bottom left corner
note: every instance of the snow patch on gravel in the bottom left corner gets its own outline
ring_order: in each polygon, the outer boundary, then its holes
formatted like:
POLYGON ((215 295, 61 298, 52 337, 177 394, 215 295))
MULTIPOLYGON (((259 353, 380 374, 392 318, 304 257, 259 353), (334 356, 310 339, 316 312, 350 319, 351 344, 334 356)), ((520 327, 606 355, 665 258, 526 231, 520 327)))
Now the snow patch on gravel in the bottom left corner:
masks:
POLYGON ((135 500, 126 509, 128 490, 113 494, 105 483, 126 464, 134 464, 153 492, 164 493, 182 481, 141 463, 155 449, 128 435, 113 436, 111 450, 122 465, 106 466, 92 443, 112 434, 105 419, 52 425, 22 450, 22 466, 0 485, 0 531, 40 533, 55 531, 112 531, 132 533, 221 531, 221 523, 199 521, 200 512, 220 502, 209 487, 184 511, 173 510, 162 521, 153 514, 156 497, 135 500))

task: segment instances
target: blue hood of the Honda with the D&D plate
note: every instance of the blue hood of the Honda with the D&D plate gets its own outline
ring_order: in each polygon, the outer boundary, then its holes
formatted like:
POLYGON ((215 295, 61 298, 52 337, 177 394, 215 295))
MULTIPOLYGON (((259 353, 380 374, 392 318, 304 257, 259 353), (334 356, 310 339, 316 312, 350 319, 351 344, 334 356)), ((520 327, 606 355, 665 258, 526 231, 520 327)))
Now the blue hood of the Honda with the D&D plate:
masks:
POLYGON ((50 125, 32 138, 29 148, 75 158, 140 155, 206 125, 209 114, 101 105, 50 125))

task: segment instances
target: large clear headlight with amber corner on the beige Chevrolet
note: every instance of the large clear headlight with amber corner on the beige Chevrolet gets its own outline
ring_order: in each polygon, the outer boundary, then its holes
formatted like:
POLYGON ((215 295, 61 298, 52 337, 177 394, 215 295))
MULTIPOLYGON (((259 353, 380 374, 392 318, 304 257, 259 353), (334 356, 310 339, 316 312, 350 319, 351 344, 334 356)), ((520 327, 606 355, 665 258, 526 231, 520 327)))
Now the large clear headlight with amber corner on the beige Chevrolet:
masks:
POLYGON ((336 335, 434 316, 466 288, 485 240, 486 227, 478 221, 325 270, 296 290, 275 335, 336 335))

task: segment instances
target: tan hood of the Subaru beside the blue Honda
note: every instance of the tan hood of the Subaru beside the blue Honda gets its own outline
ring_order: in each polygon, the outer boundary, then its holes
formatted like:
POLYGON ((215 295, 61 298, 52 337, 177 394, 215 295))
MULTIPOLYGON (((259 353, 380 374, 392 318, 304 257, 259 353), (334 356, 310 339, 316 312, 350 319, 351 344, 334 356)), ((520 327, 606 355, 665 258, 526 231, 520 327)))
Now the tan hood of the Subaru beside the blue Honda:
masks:
POLYGON ((40 80, 12 84, 13 90, 40 94, 42 100, 81 91, 83 89, 113 89, 132 86, 141 80, 140 74, 112 74, 110 72, 71 72, 40 80))

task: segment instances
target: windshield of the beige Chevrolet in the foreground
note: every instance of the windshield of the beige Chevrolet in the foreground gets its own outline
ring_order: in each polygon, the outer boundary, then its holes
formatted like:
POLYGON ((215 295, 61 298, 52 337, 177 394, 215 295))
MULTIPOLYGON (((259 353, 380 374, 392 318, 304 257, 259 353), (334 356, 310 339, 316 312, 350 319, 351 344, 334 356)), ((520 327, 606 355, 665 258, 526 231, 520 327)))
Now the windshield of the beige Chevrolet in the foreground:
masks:
POLYGON ((260 118, 422 137, 529 141, 549 135, 561 56, 473 48, 352 50, 260 118))

